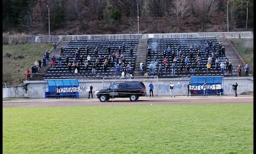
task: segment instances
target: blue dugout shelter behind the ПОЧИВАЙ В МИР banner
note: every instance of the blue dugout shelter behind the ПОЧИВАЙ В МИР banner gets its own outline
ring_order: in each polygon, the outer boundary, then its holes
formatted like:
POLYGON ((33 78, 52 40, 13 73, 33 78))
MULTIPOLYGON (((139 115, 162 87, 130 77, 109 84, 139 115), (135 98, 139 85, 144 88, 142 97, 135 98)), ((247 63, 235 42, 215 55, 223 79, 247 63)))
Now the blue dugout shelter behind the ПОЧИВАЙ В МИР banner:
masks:
MULTIPOLYGON (((59 85, 60 88, 73 87, 75 84, 76 87, 79 87, 79 83, 77 79, 62 79, 62 80, 44 80, 44 89, 45 89, 45 98, 56 97, 55 88, 59 85), (47 85, 48 84, 48 85, 47 85), (48 87, 48 91, 47 91, 48 87)), ((61 97, 72 97, 73 92, 62 92, 60 93, 61 97)), ((77 98, 79 98, 79 92, 75 92, 77 98)))

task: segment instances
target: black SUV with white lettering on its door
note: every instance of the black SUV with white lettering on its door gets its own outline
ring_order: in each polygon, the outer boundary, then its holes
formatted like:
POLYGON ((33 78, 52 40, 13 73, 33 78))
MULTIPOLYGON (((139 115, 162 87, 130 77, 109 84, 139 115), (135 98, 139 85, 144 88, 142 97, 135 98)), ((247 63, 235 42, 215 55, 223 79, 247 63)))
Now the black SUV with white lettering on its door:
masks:
POLYGON ((142 82, 127 81, 116 83, 107 89, 98 89, 94 95, 100 102, 106 102, 110 98, 130 98, 130 101, 136 101, 139 96, 146 96, 146 87, 142 82))

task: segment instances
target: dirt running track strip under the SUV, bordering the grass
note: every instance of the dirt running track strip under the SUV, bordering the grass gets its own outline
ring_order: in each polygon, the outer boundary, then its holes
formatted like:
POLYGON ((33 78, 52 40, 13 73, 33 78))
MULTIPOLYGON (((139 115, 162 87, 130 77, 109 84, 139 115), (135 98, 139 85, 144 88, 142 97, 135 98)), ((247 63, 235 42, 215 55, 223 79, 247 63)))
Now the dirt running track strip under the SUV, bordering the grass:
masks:
POLYGON ((46 107, 46 106, 106 106, 106 105, 154 105, 154 104, 224 104, 224 103, 253 103, 253 96, 169 96, 140 97, 138 101, 131 102, 129 98, 115 98, 108 102, 100 102, 98 99, 42 99, 30 98, 3 101, 3 107, 46 107))

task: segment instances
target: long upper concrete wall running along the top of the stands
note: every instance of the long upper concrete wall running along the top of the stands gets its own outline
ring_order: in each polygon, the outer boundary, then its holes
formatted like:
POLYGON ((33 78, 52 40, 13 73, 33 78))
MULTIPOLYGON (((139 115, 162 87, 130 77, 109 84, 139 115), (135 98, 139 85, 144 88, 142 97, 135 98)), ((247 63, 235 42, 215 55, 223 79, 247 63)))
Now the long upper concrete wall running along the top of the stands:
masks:
POLYGON ((56 35, 56 36, 28 36, 27 43, 52 43, 58 42, 63 36, 67 40, 77 39, 147 39, 149 36, 154 38, 186 38, 186 37, 223 37, 227 38, 253 38, 251 31, 239 32, 201 32, 201 33, 158 33, 158 34, 106 34, 106 35, 56 35))

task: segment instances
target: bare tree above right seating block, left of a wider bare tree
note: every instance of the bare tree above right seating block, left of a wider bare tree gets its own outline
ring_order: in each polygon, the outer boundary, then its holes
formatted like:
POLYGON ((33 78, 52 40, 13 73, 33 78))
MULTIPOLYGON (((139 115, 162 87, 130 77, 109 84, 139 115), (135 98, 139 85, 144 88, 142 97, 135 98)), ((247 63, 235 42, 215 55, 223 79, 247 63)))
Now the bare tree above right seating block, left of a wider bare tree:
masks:
POLYGON ((191 13, 190 2, 187 0, 174 0, 172 9, 169 9, 167 16, 172 18, 179 28, 179 31, 184 29, 184 23, 191 13))

